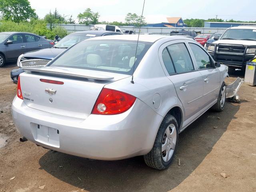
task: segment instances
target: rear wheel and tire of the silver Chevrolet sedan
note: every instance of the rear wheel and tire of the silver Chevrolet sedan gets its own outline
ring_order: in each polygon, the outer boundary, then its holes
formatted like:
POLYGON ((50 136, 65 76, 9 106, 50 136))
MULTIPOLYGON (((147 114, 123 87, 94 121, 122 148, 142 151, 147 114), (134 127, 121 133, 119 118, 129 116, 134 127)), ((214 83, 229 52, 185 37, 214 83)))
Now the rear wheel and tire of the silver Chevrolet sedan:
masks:
POLYGON ((145 163, 155 169, 168 168, 178 146, 178 123, 174 116, 167 114, 156 134, 152 150, 144 155, 145 163))

